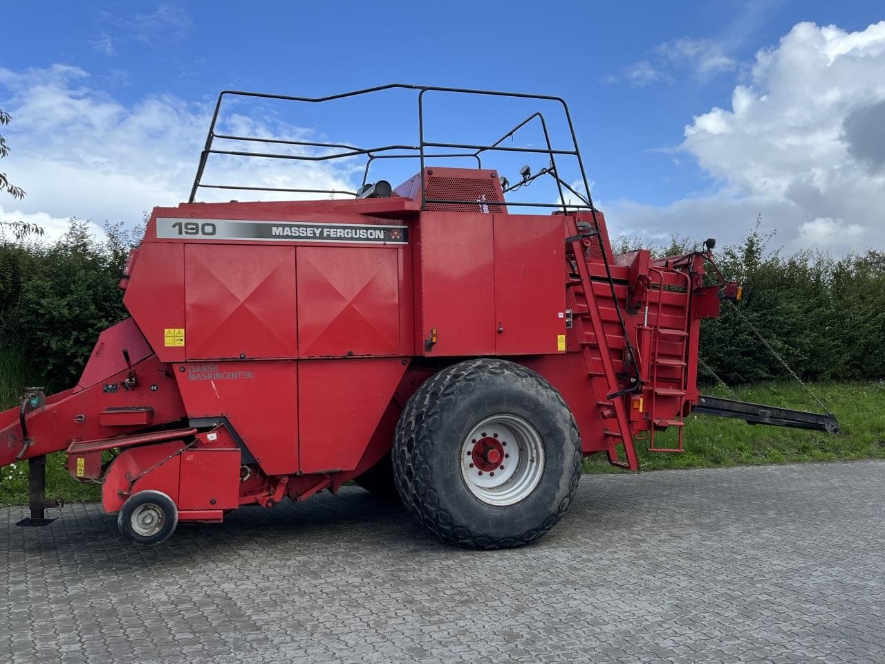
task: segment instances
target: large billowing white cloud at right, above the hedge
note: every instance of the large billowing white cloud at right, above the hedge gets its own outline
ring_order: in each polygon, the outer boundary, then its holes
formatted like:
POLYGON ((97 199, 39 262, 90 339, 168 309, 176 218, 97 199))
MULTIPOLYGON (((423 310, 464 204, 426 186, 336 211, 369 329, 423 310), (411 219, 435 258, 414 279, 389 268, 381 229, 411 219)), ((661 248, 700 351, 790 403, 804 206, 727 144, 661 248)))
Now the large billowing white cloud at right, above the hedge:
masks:
POLYGON ((735 240, 763 213, 789 249, 885 247, 885 21, 800 23, 761 50, 731 109, 685 127, 681 151, 717 182, 664 208, 612 203, 620 230, 735 240))

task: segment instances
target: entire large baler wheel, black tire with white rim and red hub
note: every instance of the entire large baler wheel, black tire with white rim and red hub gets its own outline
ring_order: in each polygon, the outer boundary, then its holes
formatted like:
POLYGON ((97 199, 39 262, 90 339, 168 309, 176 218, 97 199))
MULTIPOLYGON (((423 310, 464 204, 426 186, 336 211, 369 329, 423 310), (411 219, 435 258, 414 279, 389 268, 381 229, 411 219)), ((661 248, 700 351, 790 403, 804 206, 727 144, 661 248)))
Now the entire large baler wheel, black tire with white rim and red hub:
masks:
POLYGON ((528 544, 566 513, 581 477, 572 412, 549 382, 503 359, 458 362, 412 395, 396 425, 396 488, 437 537, 528 544))

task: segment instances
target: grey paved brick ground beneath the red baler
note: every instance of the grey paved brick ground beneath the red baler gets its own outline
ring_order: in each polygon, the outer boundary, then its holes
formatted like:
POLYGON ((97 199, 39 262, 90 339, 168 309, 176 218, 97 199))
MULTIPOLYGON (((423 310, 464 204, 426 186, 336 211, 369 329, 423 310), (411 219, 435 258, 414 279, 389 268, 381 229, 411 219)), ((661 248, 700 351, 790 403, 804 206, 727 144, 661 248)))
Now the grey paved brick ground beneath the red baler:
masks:
POLYGON ((0 662, 885 662, 885 463, 589 475, 508 552, 358 489, 124 544, 0 510, 0 662))

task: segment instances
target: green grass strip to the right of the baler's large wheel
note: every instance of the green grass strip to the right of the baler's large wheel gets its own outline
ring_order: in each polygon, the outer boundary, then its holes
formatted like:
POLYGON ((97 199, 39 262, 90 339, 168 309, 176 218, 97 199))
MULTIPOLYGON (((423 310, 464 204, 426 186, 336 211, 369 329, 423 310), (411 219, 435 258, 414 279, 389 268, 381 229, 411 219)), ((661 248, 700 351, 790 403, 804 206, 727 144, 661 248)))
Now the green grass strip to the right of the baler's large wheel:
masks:
MULTIPOLYGON (((750 425, 742 420, 711 415, 689 415, 685 427, 685 452, 647 452, 647 443, 637 443, 640 467, 659 470, 885 458, 885 381, 824 382, 812 385, 812 390, 835 413, 840 426, 837 435, 750 425)), ((710 388, 702 391, 735 398, 723 390, 710 388)), ((820 411, 795 382, 744 385, 738 392, 744 401, 820 411)), ((676 430, 671 427, 655 436, 655 444, 674 447, 676 435, 676 430)), ((618 472, 608 464, 604 454, 584 459, 584 470, 589 473, 618 472)))

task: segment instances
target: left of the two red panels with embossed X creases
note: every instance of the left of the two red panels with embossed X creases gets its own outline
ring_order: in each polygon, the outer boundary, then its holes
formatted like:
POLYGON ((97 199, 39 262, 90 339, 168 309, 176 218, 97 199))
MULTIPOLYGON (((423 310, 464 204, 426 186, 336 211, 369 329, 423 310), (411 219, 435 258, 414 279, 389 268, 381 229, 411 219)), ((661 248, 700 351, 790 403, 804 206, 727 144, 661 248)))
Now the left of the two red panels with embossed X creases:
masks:
POLYGON ((296 356, 295 248, 187 244, 188 359, 296 356))

